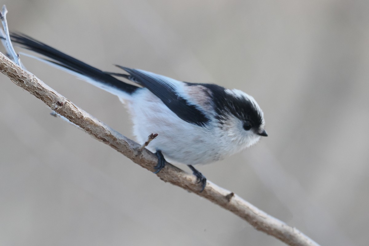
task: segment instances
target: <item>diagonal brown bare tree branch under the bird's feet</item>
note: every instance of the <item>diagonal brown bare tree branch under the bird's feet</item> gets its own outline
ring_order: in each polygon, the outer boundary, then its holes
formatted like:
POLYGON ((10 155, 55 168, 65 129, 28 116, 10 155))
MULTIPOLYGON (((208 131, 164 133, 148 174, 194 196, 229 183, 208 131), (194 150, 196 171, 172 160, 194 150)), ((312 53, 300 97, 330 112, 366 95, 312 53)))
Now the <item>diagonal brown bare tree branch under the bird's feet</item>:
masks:
MULTIPOLYGON (((8 39, 9 35, 7 32, 5 14, 6 8, 4 6, 3 15, 0 15, 0 18, 7 34, 5 39, 8 39)), ((18 64, 21 64, 19 56, 15 55, 14 49, 12 49, 13 46, 11 45, 10 39, 8 40, 7 45, 7 48, 10 51, 13 51, 11 52, 13 59, 16 60, 18 64)), ((57 93, 44 82, 39 80, 32 73, 22 69, 19 65, 8 59, 1 52, 0 70, 4 75, 8 76, 14 84, 29 91, 35 97, 42 100, 57 114, 67 118, 70 122, 79 126, 95 139, 111 146, 111 148, 127 156, 133 162, 139 164, 145 169, 148 169, 151 172, 155 171, 154 166, 156 166, 158 159, 153 153, 144 147, 147 146, 149 142, 156 137, 156 135, 149 136, 146 143, 139 145, 77 107, 67 98, 63 97, 61 94, 57 93)), ((255 229, 274 236, 288 245, 319 246, 299 230, 266 214, 254 205, 243 200, 238 195, 235 195, 233 192, 218 187, 210 181, 207 182, 204 191, 200 193, 201 187, 196 183, 196 178, 172 164, 166 163, 165 167, 156 175, 165 182, 182 187, 184 190, 196 193, 200 197, 218 204, 224 209, 227 209, 249 222, 255 229)))

